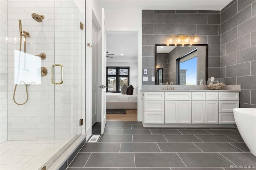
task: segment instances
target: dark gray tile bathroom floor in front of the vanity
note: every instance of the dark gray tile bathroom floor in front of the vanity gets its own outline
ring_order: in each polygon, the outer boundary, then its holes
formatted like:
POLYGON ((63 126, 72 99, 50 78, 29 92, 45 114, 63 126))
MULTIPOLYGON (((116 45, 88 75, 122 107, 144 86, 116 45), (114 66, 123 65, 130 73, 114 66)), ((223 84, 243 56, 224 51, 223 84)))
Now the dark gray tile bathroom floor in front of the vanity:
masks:
MULTIPOLYGON (((100 134, 100 123, 93 134, 100 134)), ((67 170, 227 170, 254 166, 236 128, 143 128, 108 121, 96 143, 82 147, 67 170)), ((255 168, 256 169, 256 168, 255 168)))

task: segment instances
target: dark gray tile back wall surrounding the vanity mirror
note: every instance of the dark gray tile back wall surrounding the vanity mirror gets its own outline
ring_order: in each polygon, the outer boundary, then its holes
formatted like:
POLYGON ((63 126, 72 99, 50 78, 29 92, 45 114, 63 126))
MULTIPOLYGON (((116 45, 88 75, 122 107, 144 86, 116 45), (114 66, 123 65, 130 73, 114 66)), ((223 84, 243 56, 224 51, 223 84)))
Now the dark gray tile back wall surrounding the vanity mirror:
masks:
MULTIPOLYGON (((234 15, 229 16, 228 12, 225 13, 226 20, 234 15)), ((208 62, 211 70, 208 71, 208 77, 220 77, 220 50, 224 51, 220 48, 220 15, 220 11, 142 10, 142 70, 148 70, 148 81, 143 81, 145 75, 142 73, 142 84, 154 84, 154 81, 151 81, 151 77, 155 76, 154 44, 168 43, 170 35, 179 34, 196 34, 200 38, 200 44, 208 44, 208 57, 213 57, 210 61, 214 62, 212 65, 208 62)), ((226 32, 226 24, 224 25, 222 32, 226 32)), ((170 76, 175 77, 169 75, 169 78, 170 76)))

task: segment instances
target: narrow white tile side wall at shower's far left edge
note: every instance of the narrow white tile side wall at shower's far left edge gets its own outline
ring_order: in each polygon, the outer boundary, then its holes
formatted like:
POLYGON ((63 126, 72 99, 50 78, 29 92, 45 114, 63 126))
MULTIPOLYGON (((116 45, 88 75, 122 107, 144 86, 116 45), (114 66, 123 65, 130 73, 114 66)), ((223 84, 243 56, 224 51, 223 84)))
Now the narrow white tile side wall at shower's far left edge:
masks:
POLYGON ((7 134, 8 134, 8 130, 7 130, 7 116, 8 116, 8 107, 7 107, 7 103, 8 103, 8 40, 6 40, 6 38, 8 38, 8 18, 7 18, 7 6, 8 6, 8 2, 7 0, 1 0, 0 1, 0 22, 1 22, 1 38, 0 38, 0 85, 1 85, 1 97, 0 97, 0 121, 1 121, 1 131, 0 131, 0 143, 4 142, 7 140, 7 134))

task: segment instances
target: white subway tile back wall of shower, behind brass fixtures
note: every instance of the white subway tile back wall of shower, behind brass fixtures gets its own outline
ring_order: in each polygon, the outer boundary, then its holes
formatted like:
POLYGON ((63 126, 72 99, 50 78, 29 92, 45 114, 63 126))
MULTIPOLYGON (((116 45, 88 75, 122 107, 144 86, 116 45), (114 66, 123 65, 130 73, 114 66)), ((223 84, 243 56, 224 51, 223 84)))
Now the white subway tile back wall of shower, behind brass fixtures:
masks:
MULTIPOLYGON (((82 32, 79 22, 82 16, 72 1, 24 2, 9 1, 8 4, 8 140, 68 140, 74 134, 81 133, 82 32), (34 12, 44 15, 41 23, 31 17, 34 12), (48 69, 48 75, 41 77, 41 84, 28 86, 28 102, 25 105, 16 105, 12 99, 13 51, 19 50, 20 38, 18 19, 22 21, 22 30, 30 33, 27 53, 47 55, 42 60, 42 67, 48 69), (55 86, 51 83, 54 61, 64 67, 64 83, 55 86)), ((54 81, 59 82, 60 67, 55 66, 54 75, 54 81)), ((15 99, 18 103, 26 100, 24 85, 17 86, 15 99)))

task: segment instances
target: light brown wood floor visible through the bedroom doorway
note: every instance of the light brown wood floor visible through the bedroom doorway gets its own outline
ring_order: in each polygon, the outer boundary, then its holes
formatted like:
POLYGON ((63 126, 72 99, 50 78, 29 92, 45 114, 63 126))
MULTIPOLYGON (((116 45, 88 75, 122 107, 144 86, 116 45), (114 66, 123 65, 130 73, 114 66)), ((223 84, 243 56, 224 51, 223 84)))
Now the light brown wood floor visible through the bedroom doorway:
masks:
POLYGON ((126 114, 107 114, 107 121, 138 121, 137 109, 126 109, 126 114))

